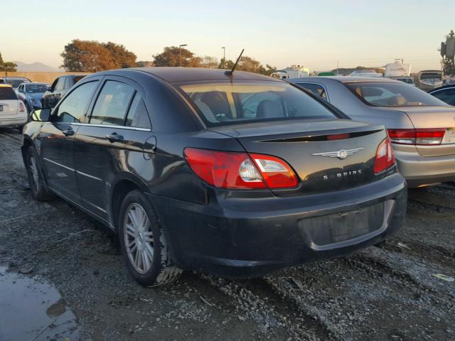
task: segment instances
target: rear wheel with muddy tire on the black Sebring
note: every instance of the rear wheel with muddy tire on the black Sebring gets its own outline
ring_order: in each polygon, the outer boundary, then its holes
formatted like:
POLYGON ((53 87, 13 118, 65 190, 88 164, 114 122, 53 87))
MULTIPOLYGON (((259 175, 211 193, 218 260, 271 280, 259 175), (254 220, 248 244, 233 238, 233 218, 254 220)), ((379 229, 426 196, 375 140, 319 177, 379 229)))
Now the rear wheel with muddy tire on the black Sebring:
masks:
POLYGON ((129 192, 122 202, 119 239, 129 274, 141 286, 171 283, 181 274, 181 269, 171 261, 154 208, 139 190, 129 192))

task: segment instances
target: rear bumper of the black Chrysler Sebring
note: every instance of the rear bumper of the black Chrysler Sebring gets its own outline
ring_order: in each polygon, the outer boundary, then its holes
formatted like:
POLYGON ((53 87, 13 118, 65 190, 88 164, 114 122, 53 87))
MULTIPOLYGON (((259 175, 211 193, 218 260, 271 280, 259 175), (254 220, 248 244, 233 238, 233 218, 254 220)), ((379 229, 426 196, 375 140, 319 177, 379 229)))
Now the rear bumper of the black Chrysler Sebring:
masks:
POLYGON ((208 205, 149 197, 179 266, 252 277, 381 242, 402 227, 407 190, 395 173, 358 188, 305 197, 245 199, 218 193, 209 196, 208 205), (375 211, 370 207, 385 207, 381 219, 363 219, 363 213, 375 211), (345 217, 353 224, 344 224, 345 217), (337 227, 353 234, 346 237, 337 227))

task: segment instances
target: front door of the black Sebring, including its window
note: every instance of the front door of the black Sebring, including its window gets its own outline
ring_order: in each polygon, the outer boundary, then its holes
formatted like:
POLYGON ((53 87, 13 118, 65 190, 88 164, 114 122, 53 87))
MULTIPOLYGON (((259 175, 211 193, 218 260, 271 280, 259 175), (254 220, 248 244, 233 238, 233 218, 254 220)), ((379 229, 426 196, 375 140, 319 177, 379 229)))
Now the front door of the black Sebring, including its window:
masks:
POLYGON ((37 137, 48 185, 76 203, 80 202, 80 194, 75 176, 74 137, 98 85, 98 80, 92 80, 70 92, 54 109, 50 121, 43 124, 37 137))

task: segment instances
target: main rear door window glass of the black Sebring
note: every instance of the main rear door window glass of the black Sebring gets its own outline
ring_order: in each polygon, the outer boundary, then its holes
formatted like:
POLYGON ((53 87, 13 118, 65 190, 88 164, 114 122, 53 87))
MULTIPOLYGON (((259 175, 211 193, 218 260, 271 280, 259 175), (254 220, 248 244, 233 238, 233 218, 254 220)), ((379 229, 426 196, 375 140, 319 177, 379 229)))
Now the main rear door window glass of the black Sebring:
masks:
POLYGON ((90 124, 122 126, 134 89, 129 85, 108 80, 98 95, 90 124))

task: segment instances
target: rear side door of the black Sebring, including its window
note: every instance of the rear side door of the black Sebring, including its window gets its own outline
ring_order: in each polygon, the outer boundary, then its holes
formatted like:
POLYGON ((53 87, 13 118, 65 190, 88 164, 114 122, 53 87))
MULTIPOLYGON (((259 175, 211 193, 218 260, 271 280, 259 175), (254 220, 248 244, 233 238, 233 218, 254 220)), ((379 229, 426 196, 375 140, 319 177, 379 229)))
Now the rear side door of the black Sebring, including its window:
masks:
POLYGON ((124 77, 107 76, 90 117, 75 136, 75 165, 82 205, 109 220, 109 183, 125 168, 128 141, 134 130, 125 126, 137 85, 124 77))

